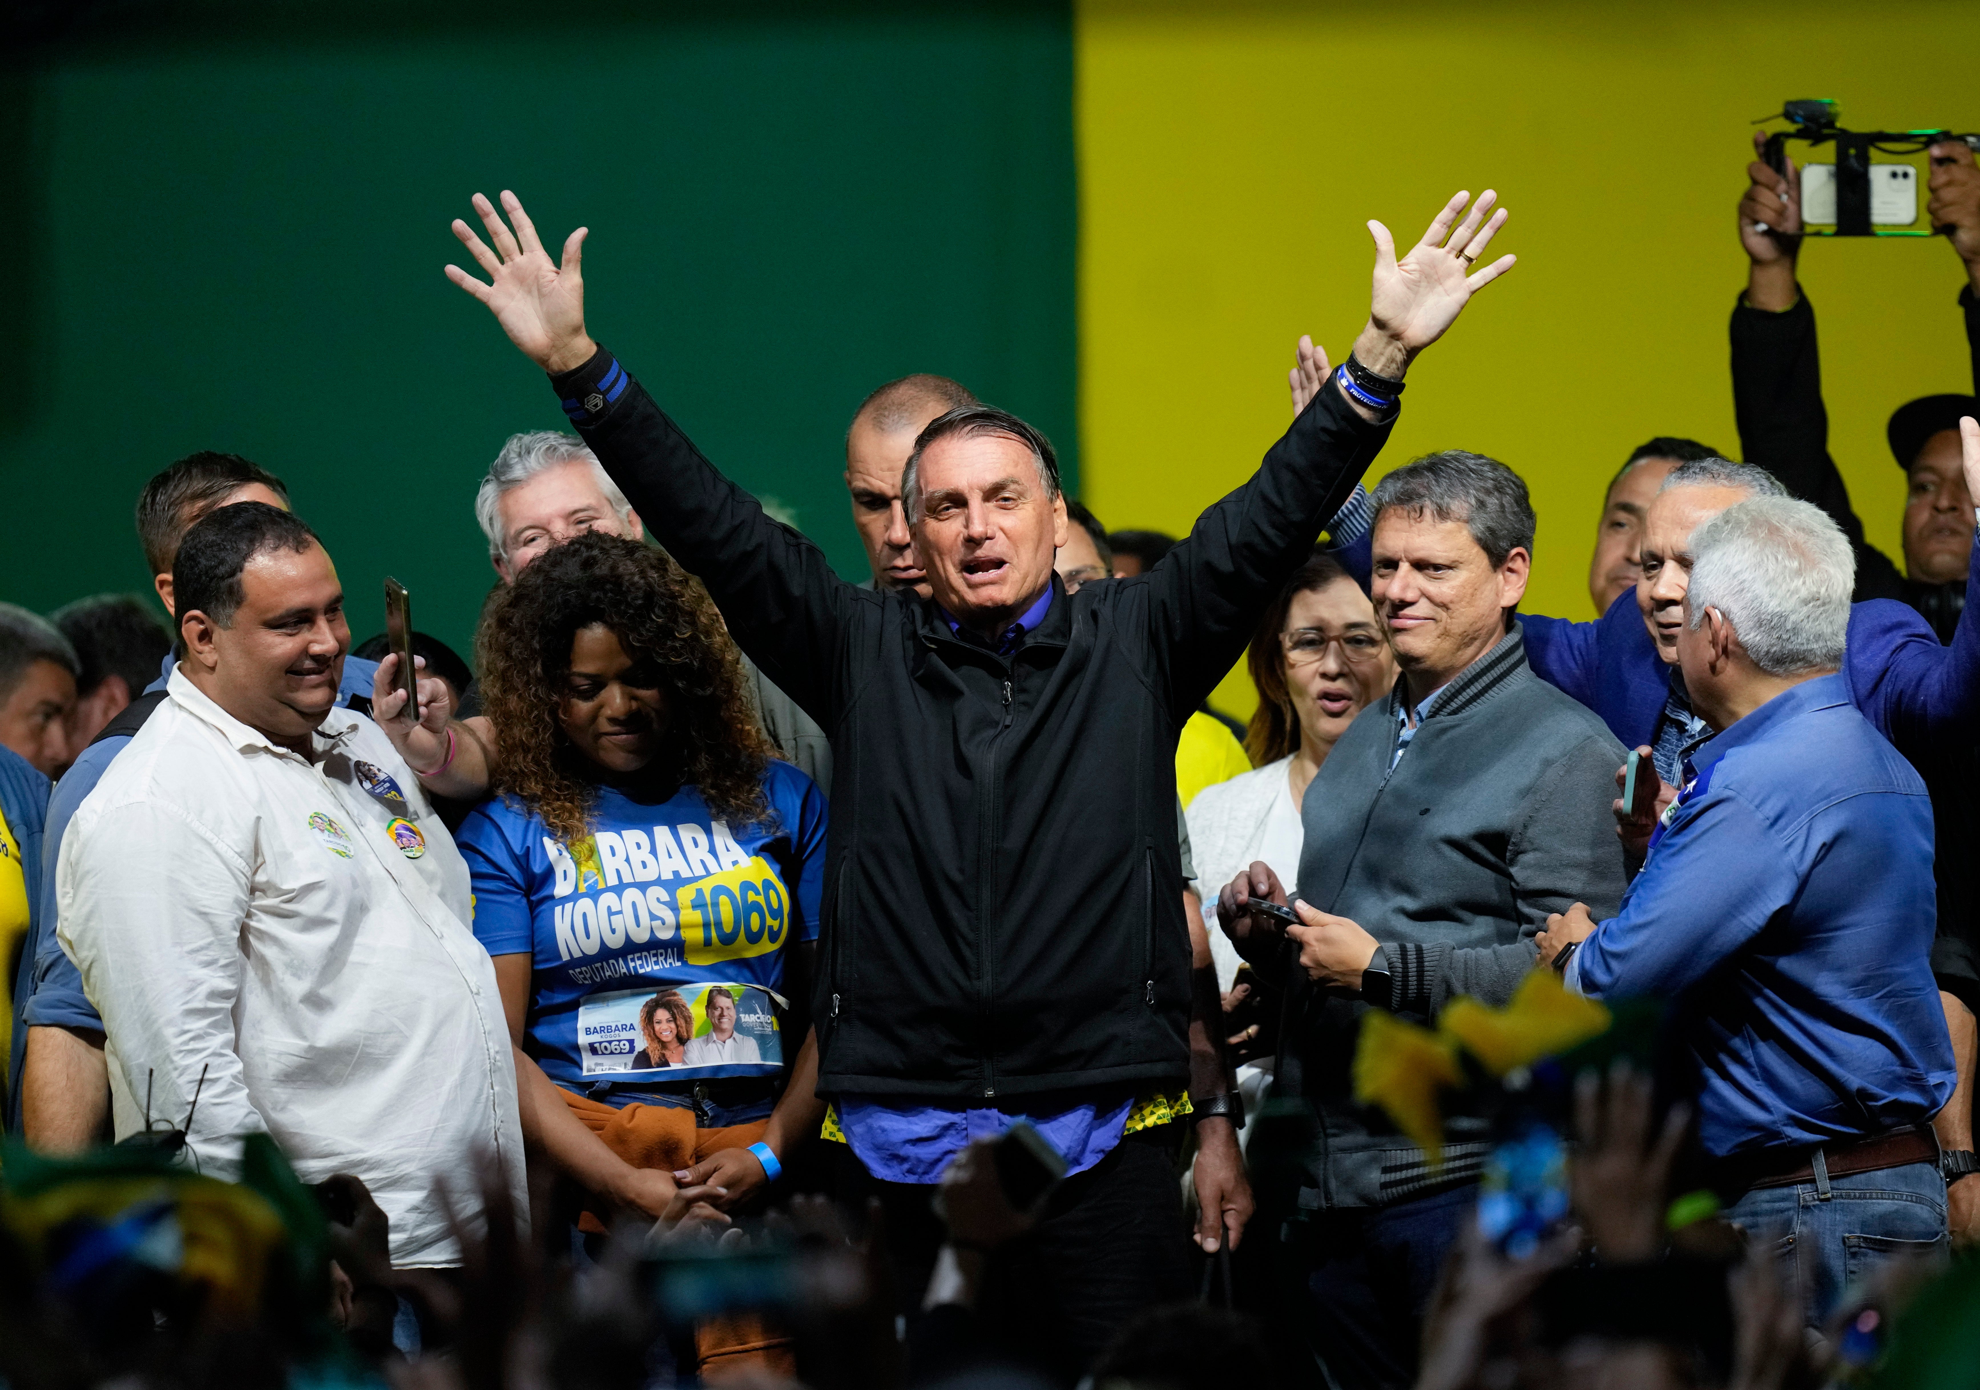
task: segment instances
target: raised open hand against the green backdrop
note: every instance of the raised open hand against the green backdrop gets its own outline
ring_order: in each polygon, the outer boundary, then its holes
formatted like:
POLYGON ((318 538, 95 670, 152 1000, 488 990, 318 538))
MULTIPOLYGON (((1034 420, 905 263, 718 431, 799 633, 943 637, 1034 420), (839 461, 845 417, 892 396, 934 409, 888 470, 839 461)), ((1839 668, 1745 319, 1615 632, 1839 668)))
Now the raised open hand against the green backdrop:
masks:
POLYGON ((568 372, 584 366, 598 345, 584 333, 584 275, 580 273, 586 228, 578 228, 564 242, 564 263, 550 261, 543 249, 537 228, 523 202, 503 190, 501 206, 515 224, 515 232, 501 220, 495 206, 475 194, 475 212, 487 228, 487 244, 475 236, 459 218, 453 220, 453 236, 461 240, 475 265, 487 271, 493 283, 483 285, 459 265, 447 265, 447 279, 479 299, 495 315, 495 321, 509 335, 509 341, 523 348, 523 356, 546 372, 568 372))

